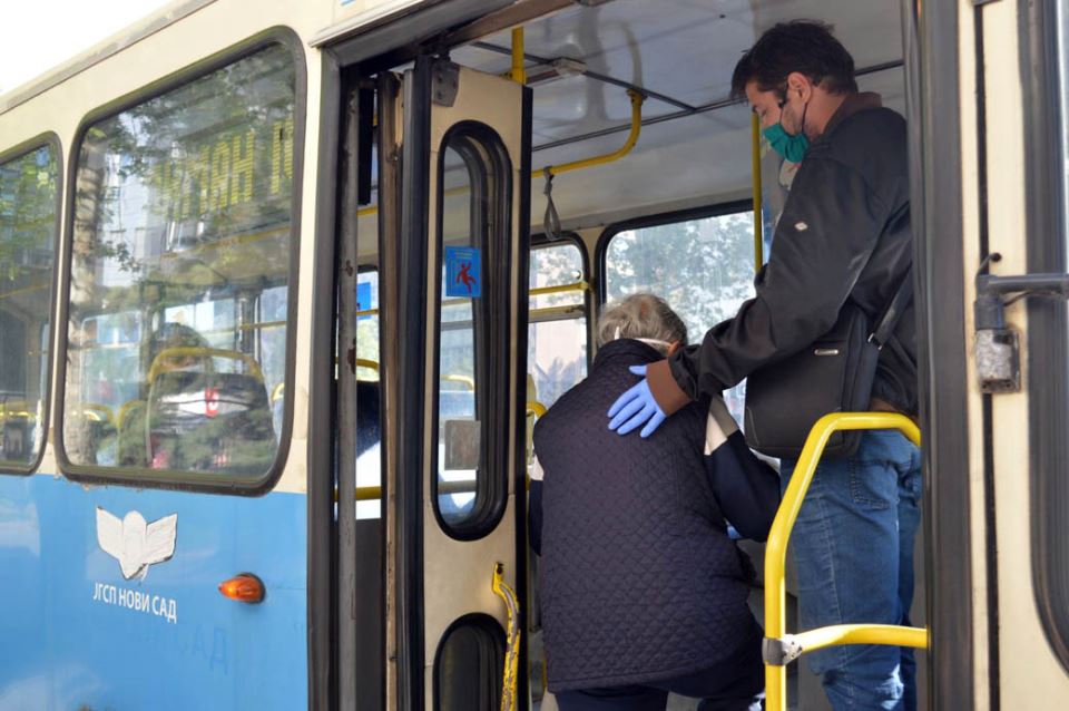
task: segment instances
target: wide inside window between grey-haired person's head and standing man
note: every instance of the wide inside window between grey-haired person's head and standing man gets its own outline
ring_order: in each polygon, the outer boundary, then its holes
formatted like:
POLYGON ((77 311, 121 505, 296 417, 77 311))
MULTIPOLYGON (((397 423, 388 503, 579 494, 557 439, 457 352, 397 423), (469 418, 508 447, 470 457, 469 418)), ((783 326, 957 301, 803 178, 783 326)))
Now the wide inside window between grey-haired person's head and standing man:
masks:
MULTIPOLYGON (((707 330, 735 315, 739 304, 754 295, 754 213, 749 208, 617 225, 601 238, 607 241, 607 301, 653 292, 687 324, 692 343, 699 343, 707 330)), ((739 426, 745 387, 743 381, 724 391, 739 426)))

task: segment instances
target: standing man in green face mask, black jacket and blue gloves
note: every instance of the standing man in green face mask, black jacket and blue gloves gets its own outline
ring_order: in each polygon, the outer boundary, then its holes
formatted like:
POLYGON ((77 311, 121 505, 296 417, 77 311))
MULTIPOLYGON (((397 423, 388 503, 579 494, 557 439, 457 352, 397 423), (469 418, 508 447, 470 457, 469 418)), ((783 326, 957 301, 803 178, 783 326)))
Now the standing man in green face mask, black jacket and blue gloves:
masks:
MULTIPOLYGON (((773 27, 739 60, 732 89, 773 148, 804 160, 756 296, 700 348, 632 369, 646 377, 609 409, 621 435, 643 427, 649 437, 687 402, 806 348, 847 299, 875 322, 911 266, 905 121, 857 92, 853 58, 827 27, 773 27)), ((915 416, 912 308, 893 340, 881 351, 871 407, 915 416)), ((794 465, 783 462, 784 486, 794 465)), ((866 432, 855 456, 821 464, 791 540, 804 629, 909 622, 920 489, 919 452, 896 432, 866 432)), ((837 710, 915 708, 909 650, 838 646, 810 662, 837 710)))

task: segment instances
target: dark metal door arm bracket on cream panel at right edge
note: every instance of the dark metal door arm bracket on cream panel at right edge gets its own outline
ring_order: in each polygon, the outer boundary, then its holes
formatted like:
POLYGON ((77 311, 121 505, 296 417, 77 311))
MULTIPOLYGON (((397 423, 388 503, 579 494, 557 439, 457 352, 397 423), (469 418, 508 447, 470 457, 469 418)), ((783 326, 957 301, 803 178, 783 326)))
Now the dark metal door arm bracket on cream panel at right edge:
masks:
MULTIPOLYGON (((998 262, 998 253, 984 260, 998 262)), ((1069 274, 977 274, 973 302, 977 340, 977 379, 981 392, 1018 392, 1021 389, 1021 344, 1017 331, 1006 325, 1006 306, 1030 298, 1069 299, 1069 274)))

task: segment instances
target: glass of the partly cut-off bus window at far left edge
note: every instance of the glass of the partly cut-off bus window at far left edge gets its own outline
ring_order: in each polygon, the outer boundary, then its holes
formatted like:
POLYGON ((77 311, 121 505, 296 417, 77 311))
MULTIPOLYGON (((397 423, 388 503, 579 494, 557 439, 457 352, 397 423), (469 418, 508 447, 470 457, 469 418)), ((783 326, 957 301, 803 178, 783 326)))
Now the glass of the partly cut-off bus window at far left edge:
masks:
POLYGON ((29 471, 48 430, 57 179, 51 145, 0 163, 0 470, 29 471))

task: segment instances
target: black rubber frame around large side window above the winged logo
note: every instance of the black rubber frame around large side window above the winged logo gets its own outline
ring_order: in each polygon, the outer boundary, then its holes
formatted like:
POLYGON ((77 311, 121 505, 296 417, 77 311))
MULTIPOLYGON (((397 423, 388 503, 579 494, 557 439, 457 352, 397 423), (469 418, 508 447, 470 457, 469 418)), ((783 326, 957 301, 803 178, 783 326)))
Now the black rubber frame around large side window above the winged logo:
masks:
MULTIPOLYGON (((60 358, 56 372, 56 412, 59 427, 55 428, 56 461, 59 471, 71 481, 79 484, 108 484, 144 489, 167 489, 178 491, 202 491, 213 494, 229 494, 239 496, 262 496, 274 488, 282 476, 290 458, 290 446, 293 437, 293 393, 294 376, 296 373, 296 335, 297 335, 297 295, 300 292, 300 251, 302 228, 302 193, 304 187, 304 148, 305 132, 307 130, 307 66, 304 56, 304 45, 300 36, 291 28, 276 26, 257 32, 252 37, 199 60, 165 77, 153 81, 139 89, 127 92, 117 99, 108 101, 87 113, 78 123, 75 138, 71 142, 71 160, 67 166, 67 184, 73 185, 78 178, 78 158, 87 133, 98 123, 117 116, 122 111, 135 108, 146 101, 179 89, 193 81, 236 64, 271 46, 279 46, 287 50, 293 59, 294 74, 294 104, 293 104, 293 177, 290 196, 290 273, 286 286, 286 370, 285 384, 287 397, 283 405, 282 432, 278 438, 278 448, 271 468, 258 477, 243 477, 218 474, 203 474, 196 471, 180 471, 173 469, 148 469, 145 467, 100 467, 97 465, 76 465, 70 461, 63 446, 63 417, 66 415, 67 390, 67 334, 70 316, 70 271, 71 251, 65 250, 62 260, 61 284, 59 294, 59 313, 57 324, 56 353, 60 358), (61 372, 60 372, 61 371, 61 372)), ((76 195, 68 191, 65 195, 63 245, 69 247, 73 243, 73 213, 76 195)))

